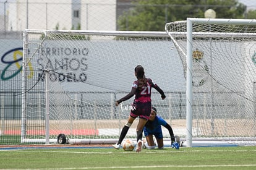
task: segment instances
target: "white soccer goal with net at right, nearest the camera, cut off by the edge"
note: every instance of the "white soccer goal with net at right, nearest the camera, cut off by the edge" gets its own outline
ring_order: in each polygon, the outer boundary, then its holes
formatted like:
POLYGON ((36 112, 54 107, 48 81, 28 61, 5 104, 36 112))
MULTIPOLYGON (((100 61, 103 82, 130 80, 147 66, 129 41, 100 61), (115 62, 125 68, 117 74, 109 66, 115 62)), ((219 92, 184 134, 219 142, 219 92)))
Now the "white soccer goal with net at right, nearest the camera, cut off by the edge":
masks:
POLYGON ((256 141, 256 20, 166 23, 186 79, 186 142, 212 137, 256 141))

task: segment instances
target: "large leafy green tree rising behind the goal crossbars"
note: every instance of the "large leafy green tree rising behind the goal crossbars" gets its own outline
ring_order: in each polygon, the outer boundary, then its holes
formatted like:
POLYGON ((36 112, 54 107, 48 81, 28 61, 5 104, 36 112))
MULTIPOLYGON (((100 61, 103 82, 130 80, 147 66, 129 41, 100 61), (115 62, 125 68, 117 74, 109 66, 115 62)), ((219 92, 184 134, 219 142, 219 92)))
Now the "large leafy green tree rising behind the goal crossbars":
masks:
POLYGON ((242 19, 246 6, 237 0, 138 0, 117 20, 119 30, 164 31, 166 22, 203 18, 211 8, 217 18, 242 19))

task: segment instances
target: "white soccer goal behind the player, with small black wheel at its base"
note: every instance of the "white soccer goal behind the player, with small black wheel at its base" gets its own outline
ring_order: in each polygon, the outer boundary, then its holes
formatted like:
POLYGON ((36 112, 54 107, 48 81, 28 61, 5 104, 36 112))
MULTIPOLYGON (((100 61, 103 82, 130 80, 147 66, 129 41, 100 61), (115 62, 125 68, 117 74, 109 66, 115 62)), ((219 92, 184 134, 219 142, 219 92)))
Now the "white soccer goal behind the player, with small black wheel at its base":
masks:
MULTIPOLYGON (((161 100, 152 90, 158 114, 184 136, 186 81, 170 44, 166 32, 25 30, 22 143, 116 143, 134 98, 114 104, 131 90, 138 64, 166 93, 161 100)), ((127 138, 137 137, 136 125, 127 138)))

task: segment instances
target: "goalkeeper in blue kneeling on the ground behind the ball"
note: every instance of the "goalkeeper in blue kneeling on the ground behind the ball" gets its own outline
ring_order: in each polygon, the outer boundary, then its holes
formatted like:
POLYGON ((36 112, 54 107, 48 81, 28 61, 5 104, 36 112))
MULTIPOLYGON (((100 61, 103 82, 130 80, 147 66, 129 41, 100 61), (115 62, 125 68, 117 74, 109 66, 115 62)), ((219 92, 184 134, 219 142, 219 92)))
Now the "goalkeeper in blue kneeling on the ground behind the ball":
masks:
POLYGON ((155 149, 155 142, 153 140, 153 135, 156 138, 156 142, 158 145, 158 149, 163 149, 163 132, 161 129, 161 125, 163 125, 166 129, 168 129, 169 134, 171 136, 171 146, 172 148, 179 149, 179 143, 175 141, 175 137, 173 134, 173 129, 171 125, 169 125, 161 116, 156 115, 156 108, 151 108, 150 118, 148 122, 143 128, 144 135, 146 137, 147 142, 144 143, 144 148, 148 148, 149 150, 155 149))

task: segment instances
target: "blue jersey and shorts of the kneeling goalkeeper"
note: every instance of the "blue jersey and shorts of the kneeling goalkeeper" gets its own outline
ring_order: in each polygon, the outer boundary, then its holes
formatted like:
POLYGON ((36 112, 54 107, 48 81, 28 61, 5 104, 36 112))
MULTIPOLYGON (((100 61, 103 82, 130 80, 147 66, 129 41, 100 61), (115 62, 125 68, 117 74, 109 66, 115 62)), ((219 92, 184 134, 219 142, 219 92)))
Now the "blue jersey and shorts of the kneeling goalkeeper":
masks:
POLYGON ((145 136, 147 137, 148 135, 160 135, 162 136, 162 129, 161 125, 166 125, 167 122, 164 121, 164 119, 161 116, 156 115, 154 121, 148 121, 147 124, 143 128, 143 132, 145 136))

